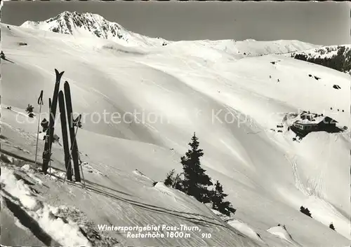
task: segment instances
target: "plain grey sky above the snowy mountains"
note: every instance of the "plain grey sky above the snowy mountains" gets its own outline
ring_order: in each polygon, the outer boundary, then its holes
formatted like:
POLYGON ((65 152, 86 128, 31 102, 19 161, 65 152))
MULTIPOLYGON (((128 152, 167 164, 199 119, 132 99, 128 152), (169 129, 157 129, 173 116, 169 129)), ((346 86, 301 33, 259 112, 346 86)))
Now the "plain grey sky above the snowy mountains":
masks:
POLYGON ((318 45, 350 41, 345 2, 6 1, 1 22, 20 25, 65 10, 91 12, 130 31, 168 40, 297 39, 318 45))

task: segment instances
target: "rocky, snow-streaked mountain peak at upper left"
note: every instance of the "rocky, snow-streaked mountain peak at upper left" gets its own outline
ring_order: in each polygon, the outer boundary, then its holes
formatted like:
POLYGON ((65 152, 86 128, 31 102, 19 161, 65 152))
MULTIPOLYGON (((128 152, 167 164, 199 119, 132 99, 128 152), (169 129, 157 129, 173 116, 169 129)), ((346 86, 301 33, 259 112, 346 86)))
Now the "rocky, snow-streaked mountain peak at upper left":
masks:
POLYGON ((106 20, 101 15, 77 13, 77 11, 64 11, 42 22, 27 21, 21 27, 74 36, 96 36, 98 38, 122 42, 124 45, 159 46, 168 43, 168 41, 161 38, 150 38, 134 34, 124 29, 120 24, 106 20))

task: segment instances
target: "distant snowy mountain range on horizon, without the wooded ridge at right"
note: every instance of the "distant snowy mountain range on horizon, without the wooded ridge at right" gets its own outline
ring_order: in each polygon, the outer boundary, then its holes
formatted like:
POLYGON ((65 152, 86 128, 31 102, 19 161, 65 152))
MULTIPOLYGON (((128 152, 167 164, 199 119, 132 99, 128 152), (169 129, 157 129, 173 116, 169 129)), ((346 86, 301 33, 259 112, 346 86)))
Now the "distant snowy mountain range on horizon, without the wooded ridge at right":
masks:
POLYGON ((274 53, 286 53, 299 50, 316 48, 313 45, 301 41, 255 41, 246 39, 245 41, 235 40, 199 40, 199 41, 166 41, 164 38, 150 38, 141 34, 128 31, 116 22, 105 20, 104 17, 93 13, 77 13, 65 11, 59 15, 41 22, 27 21, 21 27, 53 31, 60 34, 73 36, 95 36, 115 41, 121 45, 138 47, 160 47, 171 43, 188 43, 189 45, 200 45, 223 51, 234 55, 237 58, 254 57, 274 53))

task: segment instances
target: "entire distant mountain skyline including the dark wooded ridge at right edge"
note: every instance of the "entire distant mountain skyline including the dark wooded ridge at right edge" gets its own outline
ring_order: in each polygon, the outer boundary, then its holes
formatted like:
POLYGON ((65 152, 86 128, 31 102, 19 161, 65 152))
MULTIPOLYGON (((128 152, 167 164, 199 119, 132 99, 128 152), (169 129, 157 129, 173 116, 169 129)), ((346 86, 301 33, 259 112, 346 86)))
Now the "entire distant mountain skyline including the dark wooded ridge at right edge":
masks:
MULTIPOLYGON (((301 41, 166 41, 164 38, 150 38, 128 31, 116 22, 105 20, 93 13, 77 13, 65 11, 42 22, 27 21, 21 27, 53 31, 73 36, 95 36, 127 46, 160 47, 171 43, 196 43, 216 50, 224 51, 236 58, 255 57, 267 54, 287 54, 293 58, 312 62, 351 73, 351 45, 331 45, 321 47, 301 41)), ((192 44, 189 44, 192 45, 192 44)))

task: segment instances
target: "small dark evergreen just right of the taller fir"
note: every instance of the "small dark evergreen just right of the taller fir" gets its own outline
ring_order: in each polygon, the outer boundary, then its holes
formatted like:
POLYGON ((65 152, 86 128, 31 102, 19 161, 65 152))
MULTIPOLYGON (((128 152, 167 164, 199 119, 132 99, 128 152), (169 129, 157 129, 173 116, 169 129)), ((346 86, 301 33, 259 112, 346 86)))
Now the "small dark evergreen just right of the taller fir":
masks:
POLYGON ((227 197, 227 194, 223 192, 223 186, 217 181, 214 190, 211 191, 212 209, 230 216, 230 213, 235 213, 236 210, 230 202, 223 202, 225 197, 227 197))

